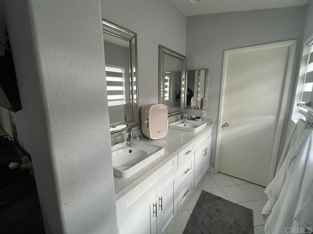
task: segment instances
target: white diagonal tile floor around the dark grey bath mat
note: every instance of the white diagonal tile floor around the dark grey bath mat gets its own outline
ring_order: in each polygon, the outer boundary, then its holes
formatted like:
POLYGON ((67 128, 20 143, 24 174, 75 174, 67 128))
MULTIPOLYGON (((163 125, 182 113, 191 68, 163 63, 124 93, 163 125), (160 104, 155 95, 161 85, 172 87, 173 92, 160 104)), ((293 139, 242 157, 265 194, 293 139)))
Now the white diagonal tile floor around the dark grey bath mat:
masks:
POLYGON ((203 176, 198 188, 186 202, 176 221, 171 224, 168 234, 182 234, 201 190, 252 209, 254 234, 264 234, 265 222, 261 212, 267 201, 267 196, 264 194, 265 187, 222 173, 217 175, 206 173, 203 176))

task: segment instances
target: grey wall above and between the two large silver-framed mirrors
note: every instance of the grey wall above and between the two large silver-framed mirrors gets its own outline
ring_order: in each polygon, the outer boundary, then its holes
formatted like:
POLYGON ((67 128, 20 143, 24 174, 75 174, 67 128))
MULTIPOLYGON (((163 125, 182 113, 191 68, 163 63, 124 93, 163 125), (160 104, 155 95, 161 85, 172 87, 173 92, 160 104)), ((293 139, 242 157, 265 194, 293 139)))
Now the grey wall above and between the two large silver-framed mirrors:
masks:
POLYGON ((139 106, 158 102, 158 45, 182 55, 186 17, 170 0, 101 0, 102 17, 137 33, 139 106))

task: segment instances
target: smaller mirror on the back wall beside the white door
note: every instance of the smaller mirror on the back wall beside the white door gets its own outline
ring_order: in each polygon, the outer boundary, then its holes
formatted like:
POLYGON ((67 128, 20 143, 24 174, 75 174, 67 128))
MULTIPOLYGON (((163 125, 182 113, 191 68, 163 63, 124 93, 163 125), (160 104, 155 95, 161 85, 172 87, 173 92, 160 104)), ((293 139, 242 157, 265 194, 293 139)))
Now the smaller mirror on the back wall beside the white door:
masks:
POLYGON ((186 108, 206 109, 209 69, 186 71, 186 108))

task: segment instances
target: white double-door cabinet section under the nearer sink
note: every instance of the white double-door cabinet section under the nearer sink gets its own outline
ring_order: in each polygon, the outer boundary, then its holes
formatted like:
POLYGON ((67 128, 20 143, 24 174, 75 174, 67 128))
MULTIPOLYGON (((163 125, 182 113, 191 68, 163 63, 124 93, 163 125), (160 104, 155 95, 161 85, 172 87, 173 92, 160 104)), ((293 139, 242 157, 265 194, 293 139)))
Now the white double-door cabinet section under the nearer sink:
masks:
POLYGON ((177 156, 116 201, 119 234, 165 234, 177 215, 177 156))

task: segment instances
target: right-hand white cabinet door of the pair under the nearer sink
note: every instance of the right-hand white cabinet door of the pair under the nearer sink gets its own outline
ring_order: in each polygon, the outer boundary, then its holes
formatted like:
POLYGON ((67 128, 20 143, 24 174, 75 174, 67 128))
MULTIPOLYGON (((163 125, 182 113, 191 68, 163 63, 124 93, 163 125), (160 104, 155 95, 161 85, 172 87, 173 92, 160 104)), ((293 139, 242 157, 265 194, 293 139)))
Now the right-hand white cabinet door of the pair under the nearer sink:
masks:
POLYGON ((177 215, 177 172, 158 187, 156 201, 157 234, 166 234, 168 224, 177 215))

